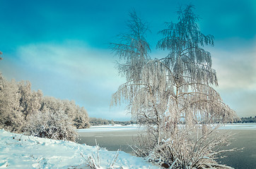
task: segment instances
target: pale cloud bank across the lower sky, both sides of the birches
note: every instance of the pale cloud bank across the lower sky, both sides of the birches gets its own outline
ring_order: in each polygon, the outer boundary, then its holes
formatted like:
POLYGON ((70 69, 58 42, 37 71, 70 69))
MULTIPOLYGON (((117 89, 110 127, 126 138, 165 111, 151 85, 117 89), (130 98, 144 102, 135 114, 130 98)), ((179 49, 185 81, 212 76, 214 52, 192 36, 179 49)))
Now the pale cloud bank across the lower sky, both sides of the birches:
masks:
MULTIPOLYGON (((256 44, 256 43, 255 43, 256 44)), ((240 117, 253 116, 256 98, 256 47, 211 50, 220 92, 226 104, 240 117)), ((17 50, 16 70, 46 95, 74 100, 84 106, 91 117, 129 120, 122 108, 111 108, 111 95, 124 82, 117 76, 115 58, 110 51, 93 49, 82 42, 41 43, 21 46, 17 50)), ((154 51, 153 57, 165 56, 154 51)), ((13 68, 15 69, 15 68, 13 68)))

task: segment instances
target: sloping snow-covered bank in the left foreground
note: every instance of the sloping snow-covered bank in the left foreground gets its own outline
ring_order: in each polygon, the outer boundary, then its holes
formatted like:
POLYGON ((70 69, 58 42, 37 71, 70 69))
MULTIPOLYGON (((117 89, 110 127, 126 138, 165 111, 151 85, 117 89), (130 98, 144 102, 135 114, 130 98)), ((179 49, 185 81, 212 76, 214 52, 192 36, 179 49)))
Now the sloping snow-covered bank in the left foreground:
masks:
MULTIPOLYGON (((74 142, 28 137, 0 130, 0 168, 88 168, 88 155, 95 154, 95 146, 74 142)), ((100 165, 107 168, 115 151, 100 149, 100 165)), ((119 152, 115 168, 158 168, 143 158, 119 152)))

